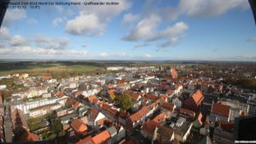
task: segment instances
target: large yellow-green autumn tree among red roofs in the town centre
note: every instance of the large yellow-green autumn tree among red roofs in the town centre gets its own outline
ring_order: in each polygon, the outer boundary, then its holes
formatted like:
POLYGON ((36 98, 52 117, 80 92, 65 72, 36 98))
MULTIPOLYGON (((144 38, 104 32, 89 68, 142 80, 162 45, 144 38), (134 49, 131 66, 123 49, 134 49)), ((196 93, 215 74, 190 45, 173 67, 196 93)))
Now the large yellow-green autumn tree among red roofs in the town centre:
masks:
POLYGON ((119 106, 122 110, 126 111, 129 108, 131 108, 132 102, 131 102, 131 95, 128 93, 123 93, 119 96, 117 96, 117 100, 119 102, 119 106))

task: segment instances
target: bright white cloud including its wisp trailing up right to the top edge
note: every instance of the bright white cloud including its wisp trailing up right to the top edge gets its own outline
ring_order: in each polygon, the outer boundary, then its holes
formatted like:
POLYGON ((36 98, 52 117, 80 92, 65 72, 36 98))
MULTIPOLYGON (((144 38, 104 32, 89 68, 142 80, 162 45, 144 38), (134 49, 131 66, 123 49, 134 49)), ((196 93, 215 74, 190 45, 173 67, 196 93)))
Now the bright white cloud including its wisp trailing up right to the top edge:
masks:
MULTIPOLYGON (((79 0, 71 0, 79 2, 79 0)), ((108 0, 95 0, 96 2, 109 2, 108 0)), ((65 30, 74 35, 95 36, 102 35, 104 29, 113 17, 130 7, 127 0, 119 0, 119 5, 79 6, 79 15, 73 20, 67 20, 65 30)))

